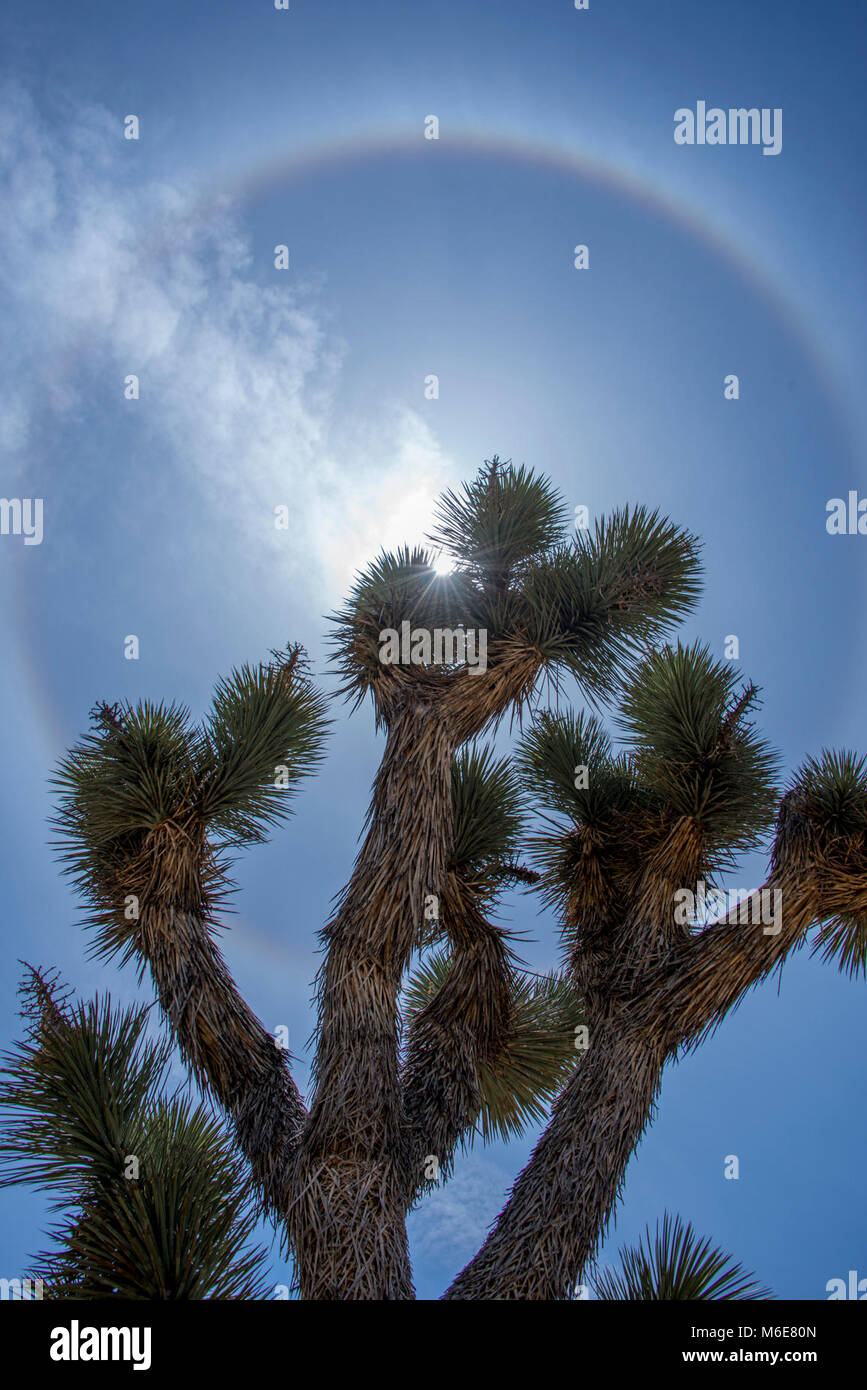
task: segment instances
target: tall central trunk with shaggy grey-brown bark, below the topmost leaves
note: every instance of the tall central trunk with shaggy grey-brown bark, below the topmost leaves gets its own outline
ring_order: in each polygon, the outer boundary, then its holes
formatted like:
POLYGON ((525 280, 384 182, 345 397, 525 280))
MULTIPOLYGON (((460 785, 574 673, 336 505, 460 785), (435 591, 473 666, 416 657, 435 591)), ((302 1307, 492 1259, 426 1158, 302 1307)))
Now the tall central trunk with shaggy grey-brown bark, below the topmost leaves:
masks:
POLYGON ((324 931, 315 1094, 289 1233, 303 1298, 413 1298, 397 995, 445 874, 454 746, 418 696, 390 720, 370 830, 324 931))

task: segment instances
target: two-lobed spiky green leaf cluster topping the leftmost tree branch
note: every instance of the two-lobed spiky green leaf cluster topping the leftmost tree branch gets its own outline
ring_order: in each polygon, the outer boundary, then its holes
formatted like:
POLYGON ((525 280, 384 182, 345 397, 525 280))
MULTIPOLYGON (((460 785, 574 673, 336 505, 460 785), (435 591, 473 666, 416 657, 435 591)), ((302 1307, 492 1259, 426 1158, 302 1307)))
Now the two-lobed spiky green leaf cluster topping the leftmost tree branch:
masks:
POLYGON ((111 954, 132 930, 114 923, 118 894, 133 881, 138 891, 136 866, 154 835, 171 835, 178 859, 185 849, 190 858, 201 851, 200 884, 215 902, 222 852, 263 840, 290 815, 293 790, 321 759, 329 721, 296 646, 221 681, 200 726, 178 705, 149 701, 100 705, 92 723, 53 778, 53 824, 67 873, 97 906, 99 948, 111 954))

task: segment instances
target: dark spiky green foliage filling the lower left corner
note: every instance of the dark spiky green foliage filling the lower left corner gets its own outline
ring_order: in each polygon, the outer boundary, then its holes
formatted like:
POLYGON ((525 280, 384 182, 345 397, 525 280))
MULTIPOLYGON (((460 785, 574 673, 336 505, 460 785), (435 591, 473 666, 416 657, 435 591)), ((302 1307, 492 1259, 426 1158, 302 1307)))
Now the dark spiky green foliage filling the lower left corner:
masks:
POLYGON ((147 1009, 72 1006, 32 972, 28 1013, 0 1070, 0 1180, 64 1212, 42 1255, 50 1297, 263 1297, 249 1176, 206 1109, 164 1097, 147 1009))

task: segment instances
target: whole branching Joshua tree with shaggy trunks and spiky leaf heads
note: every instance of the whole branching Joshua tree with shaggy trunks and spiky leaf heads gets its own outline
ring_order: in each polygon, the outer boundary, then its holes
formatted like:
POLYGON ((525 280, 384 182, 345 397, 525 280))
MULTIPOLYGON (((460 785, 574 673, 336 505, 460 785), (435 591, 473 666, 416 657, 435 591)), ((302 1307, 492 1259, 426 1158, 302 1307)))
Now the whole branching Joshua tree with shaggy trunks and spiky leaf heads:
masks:
POLYGON ((699 578, 697 541, 668 520, 624 509, 570 541, 550 484, 496 457, 442 498, 431 549, 382 553, 357 578, 335 620, 338 669, 356 703, 371 696, 385 749, 322 933, 308 1104, 214 941, 226 856, 288 813, 322 752, 327 705, 302 651, 233 673, 200 726, 175 706, 101 705, 61 764, 57 826, 96 947, 150 972, 282 1225, 302 1297, 411 1298, 413 1204, 474 1133, 514 1133, 549 1106, 445 1297, 570 1297, 666 1062, 811 929, 828 959, 864 970, 863 763, 825 752, 779 796, 754 685, 700 645, 664 645, 699 578), (454 562, 445 577, 439 550, 454 562), (436 664, 383 662, 381 634, 402 624, 485 632, 486 669, 442 651, 436 664), (540 709, 565 678, 596 712, 540 709), (506 716, 528 720, 513 763, 477 742, 506 716), (711 924, 685 915, 684 891, 774 821, 771 929, 761 898, 711 924), (542 980, 493 920, 514 883, 559 913, 565 955, 542 980))

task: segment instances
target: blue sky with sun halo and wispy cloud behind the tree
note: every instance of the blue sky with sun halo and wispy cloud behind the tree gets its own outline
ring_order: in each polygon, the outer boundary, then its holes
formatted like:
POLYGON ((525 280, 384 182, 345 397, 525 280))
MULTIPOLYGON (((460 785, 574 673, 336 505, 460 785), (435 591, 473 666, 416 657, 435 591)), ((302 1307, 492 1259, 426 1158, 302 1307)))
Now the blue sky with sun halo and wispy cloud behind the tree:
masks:
MULTIPOLYGON (((739 637, 786 769, 867 748, 867 542, 825 530, 829 498, 867 493, 853 7, 49 0, 0 36, 0 491, 44 502, 42 545, 0 538, 4 1040, 19 956, 138 992, 89 960, 47 844, 47 777, 94 701, 203 712, 288 639, 324 673, 354 567, 420 539, 493 453, 570 507, 646 502, 704 538, 684 637, 720 656, 739 637), (697 100, 782 108, 782 152, 675 145, 697 100)), ((224 938, 302 1084, 315 933, 381 751, 368 710, 335 713, 295 819, 238 866, 224 938)), ((761 873, 756 855, 731 881, 761 873)), ((538 938, 534 969, 556 960, 532 899, 504 917, 538 938)), ((802 952, 667 1073, 606 1254, 670 1208, 781 1297, 867 1275, 863 988, 802 952)), ((475 1150, 411 1218, 421 1297, 532 1137, 475 1150)), ((0 1193, 0 1212, 11 1276, 44 1205, 0 1193)))

